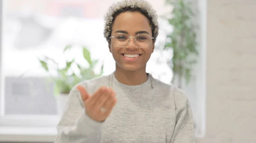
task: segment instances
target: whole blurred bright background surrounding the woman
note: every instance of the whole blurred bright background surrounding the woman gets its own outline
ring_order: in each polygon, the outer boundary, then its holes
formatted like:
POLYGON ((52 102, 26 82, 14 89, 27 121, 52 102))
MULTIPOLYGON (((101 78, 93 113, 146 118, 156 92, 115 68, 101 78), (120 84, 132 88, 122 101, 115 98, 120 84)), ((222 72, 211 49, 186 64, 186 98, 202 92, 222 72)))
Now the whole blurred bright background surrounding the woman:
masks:
MULTIPOLYGON (((114 71, 116 1, 0 0, 0 143, 52 143, 66 91, 114 71)), ((147 72, 185 91, 197 143, 256 143, 256 0, 148 2, 160 30, 147 72)))

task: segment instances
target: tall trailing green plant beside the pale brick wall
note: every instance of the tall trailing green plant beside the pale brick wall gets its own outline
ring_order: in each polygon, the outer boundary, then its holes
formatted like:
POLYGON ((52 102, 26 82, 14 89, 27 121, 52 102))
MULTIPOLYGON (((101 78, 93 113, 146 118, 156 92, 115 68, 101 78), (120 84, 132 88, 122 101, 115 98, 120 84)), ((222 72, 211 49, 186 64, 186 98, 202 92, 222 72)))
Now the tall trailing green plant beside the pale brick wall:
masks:
POLYGON ((173 71, 172 82, 181 88, 183 79, 186 84, 189 83, 192 65, 196 63, 198 56, 196 25, 193 22, 195 14, 188 0, 166 0, 166 3, 173 6, 171 18, 167 18, 173 31, 167 35, 170 41, 166 42, 164 49, 171 48, 173 51, 172 60, 168 64, 173 71))

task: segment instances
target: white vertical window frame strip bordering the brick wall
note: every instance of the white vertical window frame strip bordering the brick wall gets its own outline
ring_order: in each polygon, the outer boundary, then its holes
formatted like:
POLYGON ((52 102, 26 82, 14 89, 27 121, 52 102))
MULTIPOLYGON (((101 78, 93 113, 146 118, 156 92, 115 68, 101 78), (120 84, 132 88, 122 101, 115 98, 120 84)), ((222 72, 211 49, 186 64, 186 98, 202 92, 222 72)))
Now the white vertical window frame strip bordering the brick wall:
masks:
POLYGON ((206 133, 206 43, 207 43, 207 0, 197 0, 197 7, 198 7, 198 20, 200 25, 199 30, 199 37, 198 37, 198 43, 199 43, 199 51, 200 51, 200 57, 199 62, 196 67, 196 73, 198 80, 196 81, 197 84, 197 94, 198 94, 198 106, 196 108, 196 111, 199 112, 199 115, 196 115, 198 118, 197 123, 200 123, 200 127, 195 132, 195 136, 198 138, 204 138, 206 133))

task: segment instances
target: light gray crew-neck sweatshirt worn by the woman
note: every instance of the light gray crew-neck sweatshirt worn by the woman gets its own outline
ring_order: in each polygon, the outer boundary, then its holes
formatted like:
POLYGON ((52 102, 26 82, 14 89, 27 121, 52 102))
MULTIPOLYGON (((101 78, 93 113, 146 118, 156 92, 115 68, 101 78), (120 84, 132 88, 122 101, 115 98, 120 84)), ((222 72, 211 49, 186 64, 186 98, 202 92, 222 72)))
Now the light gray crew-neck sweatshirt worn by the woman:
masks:
POLYGON ((128 86, 114 74, 80 83, 93 94, 112 87, 117 103, 104 122, 86 115, 76 87, 57 125, 55 143, 195 143, 193 117, 186 95, 148 74, 140 85, 128 86))

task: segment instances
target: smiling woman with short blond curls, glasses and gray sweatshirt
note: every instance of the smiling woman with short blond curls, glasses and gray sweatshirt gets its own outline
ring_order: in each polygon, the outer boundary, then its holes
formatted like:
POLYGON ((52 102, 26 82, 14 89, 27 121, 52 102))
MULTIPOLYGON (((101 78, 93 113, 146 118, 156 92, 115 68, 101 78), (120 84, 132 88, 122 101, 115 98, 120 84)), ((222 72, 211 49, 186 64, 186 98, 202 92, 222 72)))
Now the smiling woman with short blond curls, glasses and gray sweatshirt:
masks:
POLYGON ((145 72, 158 35, 156 11, 125 0, 105 21, 116 70, 73 88, 55 143, 194 143, 186 95, 145 72))

